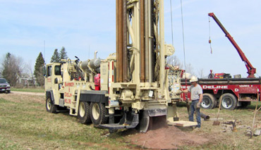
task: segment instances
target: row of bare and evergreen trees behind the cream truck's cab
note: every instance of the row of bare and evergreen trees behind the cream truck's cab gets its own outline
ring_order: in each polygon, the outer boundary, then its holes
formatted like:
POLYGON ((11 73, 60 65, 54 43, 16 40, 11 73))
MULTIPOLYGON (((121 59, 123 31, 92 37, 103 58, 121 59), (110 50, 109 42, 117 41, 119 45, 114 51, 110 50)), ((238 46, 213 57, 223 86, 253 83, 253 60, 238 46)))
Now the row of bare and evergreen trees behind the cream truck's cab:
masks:
MULTIPOLYGON (((15 54, 7 53, 3 56, 3 61, 0 64, 0 77, 5 78, 12 87, 16 87, 19 84, 19 80, 30 78, 32 80, 32 86, 35 86, 36 81, 38 86, 44 85, 44 74, 46 73, 45 61, 42 56, 42 52, 37 56, 35 61, 35 68, 32 71, 31 65, 25 63, 23 58, 16 56, 15 54)), ((50 63, 59 63, 61 59, 68 58, 66 49, 64 46, 60 51, 54 50, 53 56, 51 56, 50 63)))

